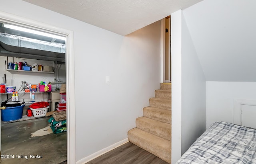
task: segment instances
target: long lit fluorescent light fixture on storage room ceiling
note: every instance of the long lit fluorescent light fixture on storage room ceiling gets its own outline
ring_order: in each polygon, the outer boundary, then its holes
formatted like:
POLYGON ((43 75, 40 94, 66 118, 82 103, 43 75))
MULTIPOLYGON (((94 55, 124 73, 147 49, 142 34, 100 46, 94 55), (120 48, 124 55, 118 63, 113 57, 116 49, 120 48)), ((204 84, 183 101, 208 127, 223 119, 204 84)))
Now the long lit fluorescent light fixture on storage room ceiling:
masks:
POLYGON ((4 27, 10 28, 10 29, 16 29, 16 30, 24 31, 24 32, 28 32, 28 33, 34 33, 34 34, 37 34, 37 35, 53 37, 53 38, 56 38, 56 39, 61 39, 61 40, 66 41, 66 37, 61 37, 61 36, 53 35, 53 34, 50 34, 50 33, 44 33, 44 32, 36 31, 36 30, 33 30, 33 29, 26 29, 24 27, 18 27, 18 26, 9 25, 9 24, 4 24, 4 27))

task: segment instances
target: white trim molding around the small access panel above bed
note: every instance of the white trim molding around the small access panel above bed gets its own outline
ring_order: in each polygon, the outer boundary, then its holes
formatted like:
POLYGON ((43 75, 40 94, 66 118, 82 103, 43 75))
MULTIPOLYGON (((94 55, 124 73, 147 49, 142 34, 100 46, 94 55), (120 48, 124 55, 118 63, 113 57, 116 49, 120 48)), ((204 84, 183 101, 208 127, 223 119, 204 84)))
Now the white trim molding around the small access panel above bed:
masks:
POLYGON ((241 105, 254 105, 256 106, 256 100, 243 100, 234 99, 234 124, 241 125, 241 105))

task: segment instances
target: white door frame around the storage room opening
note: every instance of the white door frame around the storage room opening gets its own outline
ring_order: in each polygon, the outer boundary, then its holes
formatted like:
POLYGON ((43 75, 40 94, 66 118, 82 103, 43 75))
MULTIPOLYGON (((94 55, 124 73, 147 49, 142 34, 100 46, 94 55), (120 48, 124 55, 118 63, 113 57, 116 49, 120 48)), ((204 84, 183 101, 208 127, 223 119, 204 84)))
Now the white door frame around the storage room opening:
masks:
MULTIPOLYGON (((70 110, 75 108, 74 32, 1 11, 0 21, 66 37, 67 162, 68 164, 76 163, 75 110, 70 110)), ((1 150, 0 143, 0 152, 1 150)))

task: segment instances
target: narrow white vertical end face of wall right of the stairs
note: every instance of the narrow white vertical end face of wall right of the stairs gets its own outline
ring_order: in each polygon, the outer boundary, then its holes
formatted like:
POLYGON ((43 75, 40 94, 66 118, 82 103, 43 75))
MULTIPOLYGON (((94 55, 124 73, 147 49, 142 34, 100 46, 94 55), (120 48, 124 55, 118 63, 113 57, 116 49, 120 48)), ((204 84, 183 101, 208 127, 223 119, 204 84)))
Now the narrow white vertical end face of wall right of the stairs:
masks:
POLYGON ((182 11, 171 14, 172 40, 172 163, 181 156, 181 118, 182 118, 182 11), (175 70, 175 71, 174 71, 175 70))

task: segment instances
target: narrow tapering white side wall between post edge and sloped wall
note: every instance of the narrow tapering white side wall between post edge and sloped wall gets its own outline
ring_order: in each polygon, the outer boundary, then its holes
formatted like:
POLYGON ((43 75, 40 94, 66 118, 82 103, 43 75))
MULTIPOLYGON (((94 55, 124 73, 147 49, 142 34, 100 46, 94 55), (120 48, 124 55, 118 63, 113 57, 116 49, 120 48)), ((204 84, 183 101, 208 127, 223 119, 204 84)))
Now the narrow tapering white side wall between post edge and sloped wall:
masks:
MULTIPOLYGON (((182 15, 183 16, 183 15, 182 15)), ((206 80, 182 17, 182 132, 183 154, 206 130, 206 80)))

